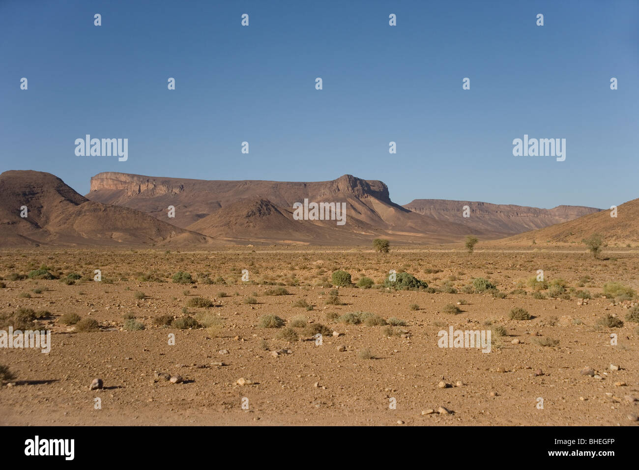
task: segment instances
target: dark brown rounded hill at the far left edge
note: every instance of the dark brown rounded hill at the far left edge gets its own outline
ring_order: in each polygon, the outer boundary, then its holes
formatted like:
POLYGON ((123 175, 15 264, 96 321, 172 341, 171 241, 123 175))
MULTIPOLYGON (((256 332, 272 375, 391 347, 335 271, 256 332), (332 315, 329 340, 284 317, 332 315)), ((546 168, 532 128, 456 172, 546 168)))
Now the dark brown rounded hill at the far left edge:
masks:
POLYGON ((189 245, 210 243, 199 233, 144 212, 89 201, 57 176, 40 171, 0 175, 0 244, 189 245), (20 208, 27 207, 27 217, 20 208))

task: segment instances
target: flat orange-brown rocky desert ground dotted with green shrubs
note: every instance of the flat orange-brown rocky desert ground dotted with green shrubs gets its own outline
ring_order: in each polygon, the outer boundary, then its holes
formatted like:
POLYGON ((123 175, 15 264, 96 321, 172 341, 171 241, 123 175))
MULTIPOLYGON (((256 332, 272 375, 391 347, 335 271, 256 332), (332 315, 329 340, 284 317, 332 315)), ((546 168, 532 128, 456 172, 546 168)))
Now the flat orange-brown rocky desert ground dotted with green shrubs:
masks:
POLYGON ((52 335, 49 353, 0 348, 0 424, 636 426, 638 262, 481 244, 3 249, 0 329, 52 335), (440 347, 451 326, 491 331, 490 352, 440 347))

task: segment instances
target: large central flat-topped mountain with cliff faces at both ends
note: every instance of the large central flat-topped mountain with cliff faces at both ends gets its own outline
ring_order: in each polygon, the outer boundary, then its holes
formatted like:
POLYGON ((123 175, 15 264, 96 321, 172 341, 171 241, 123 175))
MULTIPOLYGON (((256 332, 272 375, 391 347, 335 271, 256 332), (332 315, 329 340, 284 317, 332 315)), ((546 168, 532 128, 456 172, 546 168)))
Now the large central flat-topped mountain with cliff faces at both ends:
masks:
MULTIPOLYGON (((143 210, 159 219, 166 218, 167 208, 173 205, 176 217, 171 219, 172 223, 221 239, 343 244, 369 243, 371 238, 383 236, 401 242, 432 243, 461 240, 468 233, 477 233, 463 224, 411 212, 390 200, 388 187, 381 181, 362 180, 352 175, 324 182, 272 182, 100 173, 91 178, 91 192, 87 197, 143 210), (258 220, 256 214, 244 216, 243 211, 248 208, 245 205, 251 204, 246 200, 253 198, 263 200, 270 207, 268 217, 258 220), (346 203, 346 224, 294 221, 293 205, 304 199, 346 203), (240 200, 245 201, 235 206, 240 200), (228 210, 217 214, 222 209, 228 210), (242 221, 236 221, 235 217, 242 221), (243 231, 241 226, 245 227, 243 231)), ((484 235, 495 238, 503 233, 486 231, 484 235)))

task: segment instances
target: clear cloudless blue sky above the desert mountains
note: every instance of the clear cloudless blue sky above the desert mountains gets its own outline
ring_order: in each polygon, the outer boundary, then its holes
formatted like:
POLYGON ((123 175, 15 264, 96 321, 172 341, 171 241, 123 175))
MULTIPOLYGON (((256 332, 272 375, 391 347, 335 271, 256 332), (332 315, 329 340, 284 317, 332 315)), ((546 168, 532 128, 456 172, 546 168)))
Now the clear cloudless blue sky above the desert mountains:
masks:
POLYGON ((122 171, 350 173, 400 204, 639 197, 636 0, 0 0, 0 58, 0 170, 48 171, 82 194, 122 171), (128 161, 76 157, 85 134, 128 138, 128 161), (514 157, 523 134, 565 138, 566 161, 514 157))

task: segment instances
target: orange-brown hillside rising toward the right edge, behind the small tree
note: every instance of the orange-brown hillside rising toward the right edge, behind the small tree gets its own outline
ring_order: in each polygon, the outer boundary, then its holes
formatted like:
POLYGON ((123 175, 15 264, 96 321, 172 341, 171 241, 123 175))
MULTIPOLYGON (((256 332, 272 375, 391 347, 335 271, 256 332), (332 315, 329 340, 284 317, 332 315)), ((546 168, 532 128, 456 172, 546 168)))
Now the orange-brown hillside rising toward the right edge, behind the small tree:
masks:
POLYGON ((593 233, 601 233, 607 244, 637 244, 639 242, 639 199, 617 207, 617 217, 610 217, 610 210, 584 215, 573 221, 520 233, 499 240, 501 244, 530 245, 547 241, 553 243, 581 242, 593 233))

